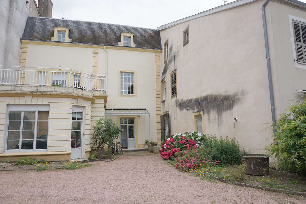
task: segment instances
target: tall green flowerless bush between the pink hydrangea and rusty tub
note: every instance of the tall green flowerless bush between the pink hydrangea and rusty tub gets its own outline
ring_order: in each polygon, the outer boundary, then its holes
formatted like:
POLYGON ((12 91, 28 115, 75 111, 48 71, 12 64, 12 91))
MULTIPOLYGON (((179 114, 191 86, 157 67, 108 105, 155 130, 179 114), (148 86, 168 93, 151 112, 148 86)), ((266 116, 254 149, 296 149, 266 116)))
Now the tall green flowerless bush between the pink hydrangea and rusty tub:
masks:
POLYGON ((203 136, 203 146, 211 148, 214 152, 213 160, 220 161, 221 165, 241 164, 241 148, 235 137, 230 139, 227 136, 225 139, 220 137, 218 140, 218 138, 212 134, 203 136))

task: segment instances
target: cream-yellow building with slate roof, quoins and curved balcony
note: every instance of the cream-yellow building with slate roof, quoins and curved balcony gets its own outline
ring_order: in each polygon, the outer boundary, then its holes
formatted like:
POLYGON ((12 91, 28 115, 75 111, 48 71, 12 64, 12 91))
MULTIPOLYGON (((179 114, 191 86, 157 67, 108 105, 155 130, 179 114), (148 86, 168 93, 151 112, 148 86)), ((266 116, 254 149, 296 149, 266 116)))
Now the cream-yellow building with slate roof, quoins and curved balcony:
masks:
POLYGON ((97 29, 93 25, 28 17, 20 66, 0 70, 1 159, 89 158, 99 118, 112 118, 125 130, 118 138, 123 148, 144 148, 145 139, 160 143, 158 31, 99 24, 117 33, 101 42, 96 33, 88 42, 90 36, 81 32, 97 29))

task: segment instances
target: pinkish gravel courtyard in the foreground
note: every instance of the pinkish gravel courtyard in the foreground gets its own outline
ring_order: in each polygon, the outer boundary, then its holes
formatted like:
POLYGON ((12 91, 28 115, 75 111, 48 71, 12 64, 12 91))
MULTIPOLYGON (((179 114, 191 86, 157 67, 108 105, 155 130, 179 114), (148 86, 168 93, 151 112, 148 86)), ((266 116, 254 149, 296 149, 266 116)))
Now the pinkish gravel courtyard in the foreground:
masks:
POLYGON ((306 203, 301 196, 211 183, 177 171, 159 154, 91 164, 76 170, 1 171, 0 203, 306 203))

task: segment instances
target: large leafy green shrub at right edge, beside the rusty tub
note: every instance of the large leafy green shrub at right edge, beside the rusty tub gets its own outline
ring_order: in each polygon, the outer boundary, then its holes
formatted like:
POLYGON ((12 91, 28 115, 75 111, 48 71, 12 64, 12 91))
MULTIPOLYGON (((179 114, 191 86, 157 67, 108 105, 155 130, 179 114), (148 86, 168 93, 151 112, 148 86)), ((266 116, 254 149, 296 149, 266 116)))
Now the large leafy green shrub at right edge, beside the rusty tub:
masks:
POLYGON ((267 154, 278 158, 281 169, 306 175, 306 100, 286 110, 289 113, 281 114, 267 154))

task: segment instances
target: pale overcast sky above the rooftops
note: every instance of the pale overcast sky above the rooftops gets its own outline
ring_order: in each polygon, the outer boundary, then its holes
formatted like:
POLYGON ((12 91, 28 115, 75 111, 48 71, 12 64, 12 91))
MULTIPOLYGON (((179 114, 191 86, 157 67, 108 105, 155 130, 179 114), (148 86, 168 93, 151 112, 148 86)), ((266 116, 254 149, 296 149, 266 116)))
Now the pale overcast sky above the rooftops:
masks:
MULTIPOLYGON (((227 1, 230 3, 234 0, 227 1)), ((52 0, 52 2, 52 18, 62 18, 64 11, 64 18, 69 20, 147 28, 156 28, 224 4, 223 0, 52 0)))

